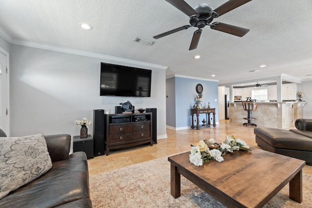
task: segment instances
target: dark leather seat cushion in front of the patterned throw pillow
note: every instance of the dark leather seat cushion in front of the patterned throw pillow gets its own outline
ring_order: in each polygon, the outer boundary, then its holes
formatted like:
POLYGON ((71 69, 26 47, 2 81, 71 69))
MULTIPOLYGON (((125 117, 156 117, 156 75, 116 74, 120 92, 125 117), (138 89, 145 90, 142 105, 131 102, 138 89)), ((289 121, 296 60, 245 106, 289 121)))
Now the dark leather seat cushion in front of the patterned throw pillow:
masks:
POLYGON ((74 152, 44 175, 0 200, 0 208, 54 208, 90 198, 87 156, 74 152))

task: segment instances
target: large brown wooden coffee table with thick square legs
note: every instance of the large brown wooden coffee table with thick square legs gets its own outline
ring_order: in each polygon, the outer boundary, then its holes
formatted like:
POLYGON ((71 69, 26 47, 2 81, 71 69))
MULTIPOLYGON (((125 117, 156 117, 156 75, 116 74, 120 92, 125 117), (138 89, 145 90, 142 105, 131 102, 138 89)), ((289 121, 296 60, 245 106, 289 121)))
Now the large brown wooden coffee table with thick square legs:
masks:
POLYGON ((223 162, 203 166, 189 161, 190 152, 168 157, 171 195, 180 196, 180 175, 229 208, 261 208, 289 182, 290 199, 302 202, 305 161, 259 149, 234 151, 223 162))

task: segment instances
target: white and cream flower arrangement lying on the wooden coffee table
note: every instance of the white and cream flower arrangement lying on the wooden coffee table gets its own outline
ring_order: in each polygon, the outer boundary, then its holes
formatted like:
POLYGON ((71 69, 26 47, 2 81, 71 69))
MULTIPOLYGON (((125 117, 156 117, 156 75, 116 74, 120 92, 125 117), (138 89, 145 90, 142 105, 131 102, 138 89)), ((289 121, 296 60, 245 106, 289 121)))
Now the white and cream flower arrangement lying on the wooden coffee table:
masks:
POLYGON ((208 141, 200 140, 195 146, 191 145, 190 162, 195 166, 202 166, 203 163, 208 163, 209 160, 222 162, 227 152, 233 153, 234 150, 249 150, 249 146, 241 139, 235 139, 234 136, 228 136, 220 145, 215 143, 215 139, 211 138, 208 141))

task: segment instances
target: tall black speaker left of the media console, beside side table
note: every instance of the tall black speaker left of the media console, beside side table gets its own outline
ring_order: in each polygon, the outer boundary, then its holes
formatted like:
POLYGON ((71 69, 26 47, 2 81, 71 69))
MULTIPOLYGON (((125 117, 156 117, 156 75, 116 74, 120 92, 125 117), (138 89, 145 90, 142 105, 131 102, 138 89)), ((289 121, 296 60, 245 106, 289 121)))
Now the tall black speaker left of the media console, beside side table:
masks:
POLYGON ((94 156, 105 154, 105 111, 93 110, 93 143, 94 156))

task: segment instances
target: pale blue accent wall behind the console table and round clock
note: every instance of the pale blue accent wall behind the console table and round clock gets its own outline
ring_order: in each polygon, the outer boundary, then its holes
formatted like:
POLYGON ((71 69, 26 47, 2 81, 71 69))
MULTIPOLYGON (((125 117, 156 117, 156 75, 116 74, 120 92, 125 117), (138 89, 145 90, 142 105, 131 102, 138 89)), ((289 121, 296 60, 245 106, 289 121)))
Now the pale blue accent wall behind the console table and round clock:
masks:
MULTIPOLYGON (((173 88, 175 92, 175 103, 171 101, 171 106, 167 105, 167 116, 168 111, 172 111, 172 106, 175 106, 175 117, 173 116, 173 114, 171 114, 169 118, 167 117, 168 126, 183 129, 192 125, 191 108, 193 108, 193 105, 195 104, 195 97, 197 95, 195 87, 197 84, 202 84, 203 86, 203 106, 208 106, 208 102, 210 102, 210 107, 215 108, 215 120, 216 122, 219 121, 217 81, 207 81, 185 77, 173 77, 166 80, 166 92, 172 93, 173 88), (175 119, 175 123, 172 122, 173 117, 175 119)), ((168 101, 168 98, 166 100, 168 101)), ((200 114, 199 121, 202 121, 204 118, 205 120, 207 120, 206 114, 200 114)), ((200 124, 202 123, 200 122, 200 124)))

